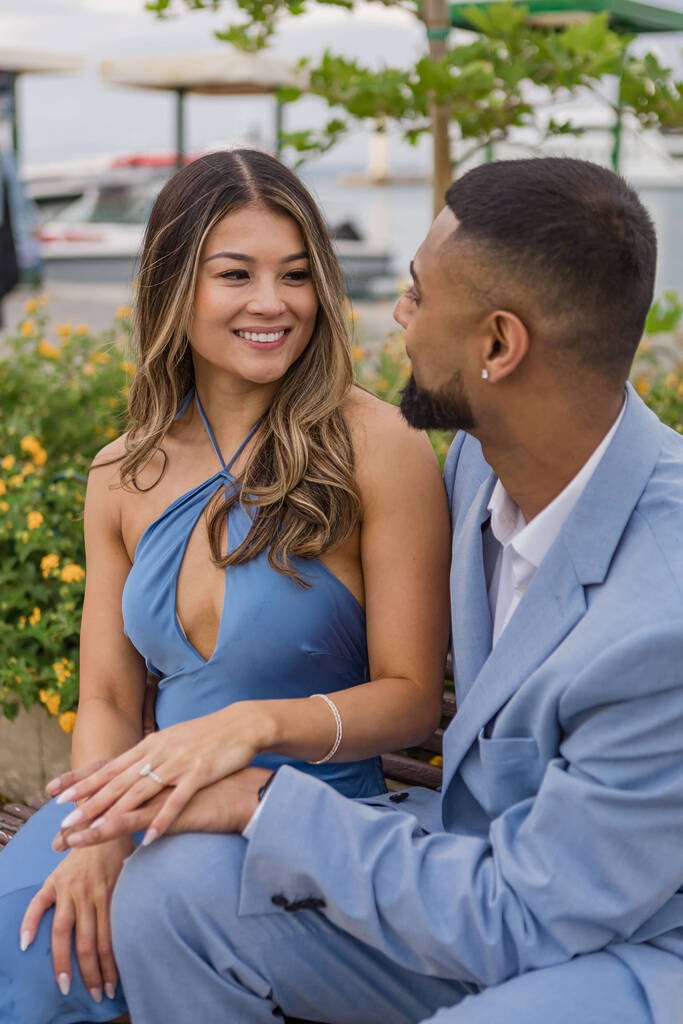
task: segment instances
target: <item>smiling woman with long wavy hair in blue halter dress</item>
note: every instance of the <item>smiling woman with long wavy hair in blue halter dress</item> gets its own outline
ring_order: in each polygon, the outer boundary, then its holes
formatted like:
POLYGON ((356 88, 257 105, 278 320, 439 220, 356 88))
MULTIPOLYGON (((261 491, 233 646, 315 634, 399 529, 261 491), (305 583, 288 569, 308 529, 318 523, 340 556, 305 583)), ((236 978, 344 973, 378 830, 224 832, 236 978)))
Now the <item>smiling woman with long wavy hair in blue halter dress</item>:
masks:
POLYGON ((73 763, 109 764, 0 858, 0 1020, 125 1009, 109 904, 133 843, 52 850, 67 812, 89 821, 163 788, 151 842, 252 761, 369 796, 378 753, 437 723, 444 497, 427 438, 352 385, 343 298, 321 214, 274 159, 212 154, 161 191, 131 429, 86 499, 73 763), (147 672, 162 731, 142 739, 147 672))

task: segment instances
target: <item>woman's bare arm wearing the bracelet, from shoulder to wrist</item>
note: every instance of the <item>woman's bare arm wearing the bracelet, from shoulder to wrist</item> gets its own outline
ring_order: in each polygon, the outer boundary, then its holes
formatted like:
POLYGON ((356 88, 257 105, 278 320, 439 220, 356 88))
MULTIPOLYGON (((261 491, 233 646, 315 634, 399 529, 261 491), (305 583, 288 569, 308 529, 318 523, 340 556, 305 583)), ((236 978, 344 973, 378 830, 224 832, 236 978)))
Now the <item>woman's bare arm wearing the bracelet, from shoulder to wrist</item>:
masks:
MULTIPOLYGON (((397 410, 353 398, 349 425, 362 502, 360 560, 372 682, 330 693, 343 724, 332 759, 414 745, 438 725, 449 640, 451 529, 438 463, 426 434, 397 410)), ((336 737, 321 699, 270 700, 264 746, 325 757, 336 737)))

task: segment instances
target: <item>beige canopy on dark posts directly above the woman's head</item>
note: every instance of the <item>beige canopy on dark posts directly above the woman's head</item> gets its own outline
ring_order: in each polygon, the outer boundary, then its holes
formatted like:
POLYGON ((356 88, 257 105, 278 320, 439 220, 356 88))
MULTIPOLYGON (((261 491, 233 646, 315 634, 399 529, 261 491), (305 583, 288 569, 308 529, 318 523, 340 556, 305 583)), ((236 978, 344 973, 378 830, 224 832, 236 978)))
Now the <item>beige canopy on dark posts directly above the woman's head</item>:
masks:
MULTIPOLYGON (((304 88, 305 76, 281 57, 241 50, 210 50, 177 56, 121 57, 103 60, 100 75, 112 85, 175 93, 177 166, 185 153, 184 100, 188 92, 205 96, 274 95, 284 86, 304 88)), ((275 102, 275 150, 280 152, 282 103, 275 102)))

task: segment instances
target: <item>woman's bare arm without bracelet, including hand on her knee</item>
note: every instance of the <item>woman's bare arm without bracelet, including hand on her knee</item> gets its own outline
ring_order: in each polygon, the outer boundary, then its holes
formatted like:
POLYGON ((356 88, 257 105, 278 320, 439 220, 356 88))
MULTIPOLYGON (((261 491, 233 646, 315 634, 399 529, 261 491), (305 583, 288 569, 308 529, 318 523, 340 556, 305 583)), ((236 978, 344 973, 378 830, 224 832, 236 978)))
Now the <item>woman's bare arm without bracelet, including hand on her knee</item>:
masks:
MULTIPOLYGON (((115 442, 116 445, 117 442, 115 442)), ((110 445, 104 455, 110 454, 110 445)), ((74 732, 75 768, 116 757, 142 735, 144 666, 123 634, 121 595, 130 561, 121 539, 119 497, 112 467, 91 469, 85 502, 86 590, 81 625, 80 700, 74 732)), ((96 1002, 114 998, 117 968, 112 952, 110 900, 128 837, 97 850, 73 851, 50 872, 31 900, 20 928, 26 949, 45 911, 54 907, 51 955, 57 984, 67 993, 72 947, 81 976, 96 1002)))

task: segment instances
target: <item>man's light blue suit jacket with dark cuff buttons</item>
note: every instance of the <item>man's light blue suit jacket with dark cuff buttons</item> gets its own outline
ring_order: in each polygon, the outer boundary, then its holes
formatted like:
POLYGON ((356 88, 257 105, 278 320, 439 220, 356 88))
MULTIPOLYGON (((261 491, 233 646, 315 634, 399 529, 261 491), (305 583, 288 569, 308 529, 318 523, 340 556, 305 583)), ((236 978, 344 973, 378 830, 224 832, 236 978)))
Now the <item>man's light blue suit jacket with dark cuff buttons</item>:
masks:
POLYGON ((495 482, 460 434, 445 472, 459 711, 440 798, 378 810, 282 769, 241 913, 318 897, 397 965, 481 986, 608 946, 655 1021, 676 1005, 683 1020, 683 437, 629 388, 492 651, 495 482))

